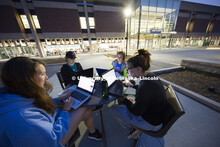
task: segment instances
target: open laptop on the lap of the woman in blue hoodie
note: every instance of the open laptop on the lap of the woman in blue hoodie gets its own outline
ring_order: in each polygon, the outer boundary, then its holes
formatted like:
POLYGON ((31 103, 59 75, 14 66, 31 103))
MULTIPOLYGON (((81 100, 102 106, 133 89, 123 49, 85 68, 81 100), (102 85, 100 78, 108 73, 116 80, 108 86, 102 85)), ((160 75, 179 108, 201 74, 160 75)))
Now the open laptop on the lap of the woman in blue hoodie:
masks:
POLYGON ((74 91, 71 93, 71 96, 74 98, 74 103, 72 106, 73 109, 77 109, 91 97, 94 86, 95 79, 80 76, 78 86, 73 85, 69 88, 74 89, 74 91))

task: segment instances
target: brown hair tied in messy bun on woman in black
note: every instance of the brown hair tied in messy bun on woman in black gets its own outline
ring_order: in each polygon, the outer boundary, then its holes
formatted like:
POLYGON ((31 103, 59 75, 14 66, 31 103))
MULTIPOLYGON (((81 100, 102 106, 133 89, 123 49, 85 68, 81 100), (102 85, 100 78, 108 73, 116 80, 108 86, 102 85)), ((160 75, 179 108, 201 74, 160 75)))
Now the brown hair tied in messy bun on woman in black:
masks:
POLYGON ((151 54, 148 50, 139 49, 127 62, 131 63, 133 67, 141 67, 143 71, 146 71, 150 68, 150 56, 151 54))

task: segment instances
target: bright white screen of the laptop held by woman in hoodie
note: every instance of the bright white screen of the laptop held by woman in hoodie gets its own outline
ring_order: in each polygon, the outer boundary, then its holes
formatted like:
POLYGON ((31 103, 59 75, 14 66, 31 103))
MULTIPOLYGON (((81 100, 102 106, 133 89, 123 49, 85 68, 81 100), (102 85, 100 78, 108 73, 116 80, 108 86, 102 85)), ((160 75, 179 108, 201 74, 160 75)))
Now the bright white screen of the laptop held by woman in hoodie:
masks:
POLYGON ((95 85, 95 79, 80 76, 79 84, 78 84, 79 88, 86 90, 88 92, 92 92, 94 85, 95 85))

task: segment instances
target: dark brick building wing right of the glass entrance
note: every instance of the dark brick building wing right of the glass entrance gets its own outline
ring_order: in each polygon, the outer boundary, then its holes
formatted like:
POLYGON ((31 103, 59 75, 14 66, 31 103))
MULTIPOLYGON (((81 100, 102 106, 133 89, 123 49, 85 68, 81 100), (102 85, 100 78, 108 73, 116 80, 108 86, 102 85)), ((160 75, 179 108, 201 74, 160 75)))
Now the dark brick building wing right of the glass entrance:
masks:
POLYGON ((220 46, 220 7, 181 2, 172 47, 220 46))

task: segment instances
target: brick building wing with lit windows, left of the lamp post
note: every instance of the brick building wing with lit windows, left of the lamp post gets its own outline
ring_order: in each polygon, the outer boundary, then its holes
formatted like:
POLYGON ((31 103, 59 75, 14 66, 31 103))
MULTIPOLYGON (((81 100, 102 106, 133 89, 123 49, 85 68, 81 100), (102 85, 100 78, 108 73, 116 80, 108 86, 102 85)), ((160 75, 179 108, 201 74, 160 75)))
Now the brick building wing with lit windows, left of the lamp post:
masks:
POLYGON ((0 58, 125 47, 129 0, 1 0, 0 58))

